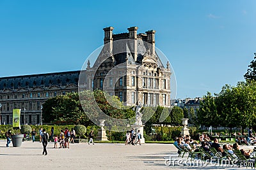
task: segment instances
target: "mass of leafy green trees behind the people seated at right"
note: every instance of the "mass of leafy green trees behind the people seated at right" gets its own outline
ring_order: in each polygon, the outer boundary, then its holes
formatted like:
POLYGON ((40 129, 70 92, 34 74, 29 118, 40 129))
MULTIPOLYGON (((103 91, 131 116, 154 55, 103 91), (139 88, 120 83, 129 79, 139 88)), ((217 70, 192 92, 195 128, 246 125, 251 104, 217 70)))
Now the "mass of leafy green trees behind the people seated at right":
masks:
POLYGON ((198 110, 198 122, 207 127, 256 127, 256 82, 225 85, 216 97, 207 93, 198 110))

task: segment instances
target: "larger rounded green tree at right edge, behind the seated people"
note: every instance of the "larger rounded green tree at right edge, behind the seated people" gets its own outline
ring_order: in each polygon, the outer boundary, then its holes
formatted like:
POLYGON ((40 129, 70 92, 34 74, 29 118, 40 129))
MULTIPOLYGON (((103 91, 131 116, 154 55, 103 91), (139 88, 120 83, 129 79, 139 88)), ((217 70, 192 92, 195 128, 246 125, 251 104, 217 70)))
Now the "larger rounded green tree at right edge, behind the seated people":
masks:
POLYGON ((225 126, 254 126, 256 120, 256 83, 255 81, 239 82, 236 87, 225 85, 216 99, 218 112, 223 117, 225 126))

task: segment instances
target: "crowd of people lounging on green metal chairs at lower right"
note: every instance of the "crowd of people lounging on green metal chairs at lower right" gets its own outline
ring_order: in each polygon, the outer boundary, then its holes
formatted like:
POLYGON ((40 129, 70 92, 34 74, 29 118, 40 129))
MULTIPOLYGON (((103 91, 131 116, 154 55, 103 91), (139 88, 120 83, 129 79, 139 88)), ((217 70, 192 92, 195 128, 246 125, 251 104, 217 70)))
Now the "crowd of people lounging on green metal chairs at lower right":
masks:
MULTIPOLYGON (((212 141, 211 138, 207 136, 207 134, 202 134, 202 136, 200 136, 199 138, 199 141, 200 143, 197 143, 195 140, 191 139, 190 136, 187 135, 185 138, 176 138, 173 145, 175 145, 177 148, 186 147, 188 150, 194 152, 198 152, 198 148, 201 147, 204 149, 205 152, 208 152, 210 155, 214 155, 214 153, 212 153, 209 148, 214 148, 217 152, 221 153, 222 157, 225 157, 227 155, 224 150, 227 150, 227 152, 232 155, 234 154, 234 150, 239 150, 247 159, 250 158, 250 155, 253 152, 253 150, 245 152, 243 149, 240 149, 240 146, 237 142, 234 143, 234 145, 225 144, 221 146, 217 138, 214 138, 214 140, 212 141)), ((178 153, 180 153, 180 150, 178 150, 178 153)), ((234 157, 236 157, 236 154, 234 154, 234 157)), ((210 158, 207 157, 207 159, 210 158)))

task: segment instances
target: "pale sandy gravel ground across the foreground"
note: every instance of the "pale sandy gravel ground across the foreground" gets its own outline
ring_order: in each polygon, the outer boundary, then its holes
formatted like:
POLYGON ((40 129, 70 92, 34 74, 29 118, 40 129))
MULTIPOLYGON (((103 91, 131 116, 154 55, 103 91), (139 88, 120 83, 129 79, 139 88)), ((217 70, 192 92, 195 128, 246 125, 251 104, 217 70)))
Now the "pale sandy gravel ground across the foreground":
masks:
MULTIPOLYGON (((54 149, 47 145, 48 155, 42 155, 42 143, 25 141, 19 148, 6 148, 0 141, 0 169, 227 169, 225 167, 166 166, 165 158, 177 158, 177 150, 170 144, 87 143, 70 144, 69 149, 54 149)), ((237 168, 228 168, 237 169, 237 168)), ((241 169, 241 168, 240 168, 241 169)))

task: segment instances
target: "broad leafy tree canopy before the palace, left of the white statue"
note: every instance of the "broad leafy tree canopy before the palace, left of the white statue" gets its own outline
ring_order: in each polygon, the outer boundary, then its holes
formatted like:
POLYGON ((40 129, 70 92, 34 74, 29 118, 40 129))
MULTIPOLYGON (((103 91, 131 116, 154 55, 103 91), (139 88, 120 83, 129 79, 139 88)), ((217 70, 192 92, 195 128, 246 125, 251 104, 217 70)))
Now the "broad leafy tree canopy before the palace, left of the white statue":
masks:
POLYGON ((113 118, 132 118, 135 116, 132 108, 125 108, 118 97, 109 96, 102 90, 93 92, 84 90, 81 92, 80 98, 78 93, 52 97, 43 104, 42 116, 44 123, 88 126, 93 124, 88 115, 97 117, 99 110, 113 118), (97 104, 92 102, 94 100, 97 104))

